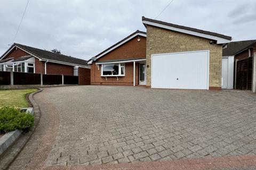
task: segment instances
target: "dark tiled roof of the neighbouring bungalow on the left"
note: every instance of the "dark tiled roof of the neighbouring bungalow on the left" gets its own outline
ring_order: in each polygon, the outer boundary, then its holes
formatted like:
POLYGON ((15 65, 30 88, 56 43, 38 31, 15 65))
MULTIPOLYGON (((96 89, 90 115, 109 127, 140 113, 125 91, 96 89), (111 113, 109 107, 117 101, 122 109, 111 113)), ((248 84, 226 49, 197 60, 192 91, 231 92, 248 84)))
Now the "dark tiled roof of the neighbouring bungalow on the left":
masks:
POLYGON ((38 49, 38 48, 30 47, 30 46, 25 46, 25 45, 18 44, 18 43, 13 43, 13 45, 0 58, 3 58, 7 53, 9 53, 10 50, 14 46, 16 46, 22 50, 25 50, 26 52, 40 58, 41 60, 53 60, 53 61, 58 61, 58 62, 70 63, 70 64, 74 64, 74 65, 77 64, 77 65, 82 65, 82 66, 90 66, 89 64, 87 64, 87 61, 79 59, 79 58, 75 58, 75 57, 71 57, 71 56, 67 56, 67 55, 63 55, 63 54, 57 54, 57 53, 49 52, 47 50, 38 49))

